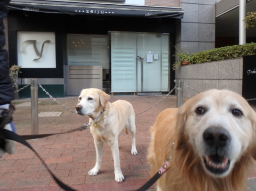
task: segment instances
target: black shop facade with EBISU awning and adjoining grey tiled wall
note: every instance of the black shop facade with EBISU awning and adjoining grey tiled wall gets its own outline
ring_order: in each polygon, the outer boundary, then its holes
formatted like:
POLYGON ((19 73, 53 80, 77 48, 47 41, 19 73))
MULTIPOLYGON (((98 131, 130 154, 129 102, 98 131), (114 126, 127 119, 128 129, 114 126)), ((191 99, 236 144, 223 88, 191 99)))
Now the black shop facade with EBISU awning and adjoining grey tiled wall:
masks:
MULTIPOLYGON (((191 53, 214 48, 215 3, 11 1, 10 65, 21 66, 19 88, 37 78, 53 97, 90 87, 113 95, 169 92, 175 47, 191 53)), ((46 96, 39 89, 39 97, 46 96)), ((30 97, 30 90, 19 97, 30 97)))

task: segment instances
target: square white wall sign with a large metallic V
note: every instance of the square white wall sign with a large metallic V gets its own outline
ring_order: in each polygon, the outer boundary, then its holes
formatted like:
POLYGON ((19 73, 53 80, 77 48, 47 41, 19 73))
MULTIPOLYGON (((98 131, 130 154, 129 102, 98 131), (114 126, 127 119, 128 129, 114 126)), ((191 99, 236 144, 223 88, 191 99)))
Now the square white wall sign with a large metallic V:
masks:
POLYGON ((17 32, 18 65, 22 68, 56 68, 54 32, 17 32))

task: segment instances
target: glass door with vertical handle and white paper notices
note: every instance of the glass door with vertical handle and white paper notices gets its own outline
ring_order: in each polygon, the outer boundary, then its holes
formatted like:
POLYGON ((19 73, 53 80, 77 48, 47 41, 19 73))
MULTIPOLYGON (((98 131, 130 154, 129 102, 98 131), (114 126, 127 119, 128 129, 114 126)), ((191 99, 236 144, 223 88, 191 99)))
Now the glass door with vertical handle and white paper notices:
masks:
POLYGON ((138 95, 168 90, 169 35, 138 34, 138 95))

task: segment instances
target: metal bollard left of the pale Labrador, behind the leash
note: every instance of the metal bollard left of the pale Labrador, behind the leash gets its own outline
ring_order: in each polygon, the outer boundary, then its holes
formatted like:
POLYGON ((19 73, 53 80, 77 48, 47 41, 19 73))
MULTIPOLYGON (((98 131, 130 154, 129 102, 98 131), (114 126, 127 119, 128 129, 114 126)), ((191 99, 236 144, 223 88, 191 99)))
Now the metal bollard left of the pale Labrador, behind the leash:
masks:
POLYGON ((31 135, 38 135, 38 84, 37 79, 30 79, 31 95, 31 135))

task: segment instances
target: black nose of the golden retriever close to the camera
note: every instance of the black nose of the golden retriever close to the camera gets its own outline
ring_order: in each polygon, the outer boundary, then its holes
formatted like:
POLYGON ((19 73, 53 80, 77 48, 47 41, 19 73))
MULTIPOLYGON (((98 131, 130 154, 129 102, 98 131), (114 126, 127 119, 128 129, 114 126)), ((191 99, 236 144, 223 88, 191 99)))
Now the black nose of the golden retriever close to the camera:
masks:
POLYGON ((231 136, 229 132, 220 127, 207 128, 203 133, 204 142, 212 147, 221 147, 227 145, 231 136))

